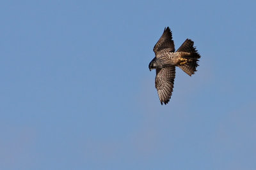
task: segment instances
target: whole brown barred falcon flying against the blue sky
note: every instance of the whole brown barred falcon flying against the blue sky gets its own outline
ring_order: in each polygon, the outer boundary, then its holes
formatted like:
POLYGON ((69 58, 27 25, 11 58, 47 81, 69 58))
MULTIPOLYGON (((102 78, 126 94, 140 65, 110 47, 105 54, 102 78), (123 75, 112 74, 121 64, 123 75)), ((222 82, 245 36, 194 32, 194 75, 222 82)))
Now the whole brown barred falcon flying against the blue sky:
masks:
POLYGON ((156 69, 155 85, 162 105, 167 104, 172 96, 175 67, 180 67, 191 76, 199 66, 200 54, 193 45, 194 41, 186 39, 175 52, 172 31, 170 27, 166 27, 154 46, 153 51, 156 57, 149 63, 148 68, 150 71, 156 69))

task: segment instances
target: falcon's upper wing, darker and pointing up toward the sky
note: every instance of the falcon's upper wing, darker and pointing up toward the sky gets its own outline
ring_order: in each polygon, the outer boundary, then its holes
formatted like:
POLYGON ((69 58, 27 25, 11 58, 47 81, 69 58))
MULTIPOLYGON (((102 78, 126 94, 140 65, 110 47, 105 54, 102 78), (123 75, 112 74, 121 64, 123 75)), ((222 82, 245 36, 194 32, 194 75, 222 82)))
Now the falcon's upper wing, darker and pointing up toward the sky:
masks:
POLYGON ((157 55, 157 52, 165 48, 170 48, 170 52, 175 52, 174 42, 172 40, 172 31, 169 27, 164 28, 163 35, 157 41, 156 45, 153 48, 153 51, 157 55))

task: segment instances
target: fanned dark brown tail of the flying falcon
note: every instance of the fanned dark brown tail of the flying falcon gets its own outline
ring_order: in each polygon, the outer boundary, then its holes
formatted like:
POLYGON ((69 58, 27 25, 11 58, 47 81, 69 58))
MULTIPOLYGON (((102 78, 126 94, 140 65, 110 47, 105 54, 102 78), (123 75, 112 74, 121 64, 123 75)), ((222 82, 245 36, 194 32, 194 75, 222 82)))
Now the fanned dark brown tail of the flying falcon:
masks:
POLYGON ((180 46, 177 52, 187 52, 189 55, 184 55, 182 58, 187 59, 186 64, 179 66, 185 73, 191 76, 195 73, 196 67, 198 65, 198 59, 200 59, 200 54, 197 52, 194 42, 191 39, 186 39, 186 41, 180 46))

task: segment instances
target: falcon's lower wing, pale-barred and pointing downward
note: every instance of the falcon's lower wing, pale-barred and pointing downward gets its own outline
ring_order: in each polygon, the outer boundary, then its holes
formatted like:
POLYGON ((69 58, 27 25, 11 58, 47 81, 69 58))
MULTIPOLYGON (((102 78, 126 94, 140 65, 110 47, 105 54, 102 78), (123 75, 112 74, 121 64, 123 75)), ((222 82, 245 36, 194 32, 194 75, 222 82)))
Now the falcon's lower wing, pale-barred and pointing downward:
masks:
POLYGON ((167 104, 170 101, 173 91, 175 78, 175 66, 156 69, 156 89, 161 104, 167 104))

